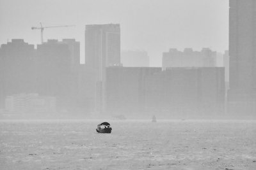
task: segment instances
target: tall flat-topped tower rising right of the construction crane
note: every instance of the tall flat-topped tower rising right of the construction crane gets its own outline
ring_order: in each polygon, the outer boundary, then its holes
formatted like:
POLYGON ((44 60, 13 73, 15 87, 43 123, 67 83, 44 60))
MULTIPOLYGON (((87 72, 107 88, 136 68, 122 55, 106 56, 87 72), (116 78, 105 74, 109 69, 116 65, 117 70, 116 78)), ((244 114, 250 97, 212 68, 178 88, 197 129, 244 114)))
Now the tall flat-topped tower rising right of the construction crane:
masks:
POLYGON ((120 25, 86 25, 85 63, 95 72, 96 81, 104 80, 105 68, 120 66, 120 25))

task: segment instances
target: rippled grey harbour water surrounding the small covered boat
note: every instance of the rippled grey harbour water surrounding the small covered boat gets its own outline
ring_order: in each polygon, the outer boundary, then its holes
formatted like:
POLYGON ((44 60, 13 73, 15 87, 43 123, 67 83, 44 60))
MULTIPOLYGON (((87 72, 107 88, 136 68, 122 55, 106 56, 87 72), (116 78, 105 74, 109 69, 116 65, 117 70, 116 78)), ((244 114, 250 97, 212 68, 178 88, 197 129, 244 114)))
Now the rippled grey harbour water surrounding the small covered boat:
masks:
POLYGON ((0 169, 256 169, 253 120, 1 120, 0 169))

